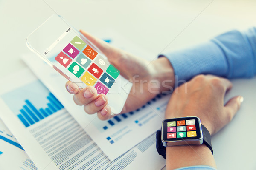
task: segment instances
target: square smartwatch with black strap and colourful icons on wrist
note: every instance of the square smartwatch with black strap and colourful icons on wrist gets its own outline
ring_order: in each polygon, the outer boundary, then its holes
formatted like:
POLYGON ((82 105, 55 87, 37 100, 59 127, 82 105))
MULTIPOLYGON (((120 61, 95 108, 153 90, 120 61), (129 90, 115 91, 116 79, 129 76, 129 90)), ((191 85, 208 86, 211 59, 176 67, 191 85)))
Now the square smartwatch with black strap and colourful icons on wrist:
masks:
POLYGON ((211 135, 198 117, 165 119, 157 131, 157 152, 166 159, 167 146, 205 144, 212 151, 211 135))

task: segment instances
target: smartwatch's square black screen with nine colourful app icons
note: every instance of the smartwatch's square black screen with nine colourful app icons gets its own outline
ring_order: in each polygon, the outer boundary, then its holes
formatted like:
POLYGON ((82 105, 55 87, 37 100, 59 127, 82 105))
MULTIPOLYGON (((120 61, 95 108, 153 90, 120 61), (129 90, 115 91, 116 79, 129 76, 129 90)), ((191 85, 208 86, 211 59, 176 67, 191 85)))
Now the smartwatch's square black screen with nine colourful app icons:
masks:
POLYGON ((166 119, 162 125, 162 139, 165 142, 201 139, 201 123, 198 117, 166 119))

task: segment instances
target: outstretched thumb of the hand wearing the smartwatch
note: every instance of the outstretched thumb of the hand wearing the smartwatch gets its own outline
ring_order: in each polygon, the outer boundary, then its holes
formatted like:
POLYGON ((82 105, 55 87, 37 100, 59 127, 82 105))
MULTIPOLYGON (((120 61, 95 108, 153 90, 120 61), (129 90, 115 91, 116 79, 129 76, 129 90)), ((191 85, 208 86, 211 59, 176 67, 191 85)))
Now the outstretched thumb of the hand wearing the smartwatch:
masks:
POLYGON ((241 103, 244 101, 244 97, 236 96, 230 99, 224 106, 224 111, 226 113, 226 120, 230 122, 235 116, 236 112, 239 110, 241 103))

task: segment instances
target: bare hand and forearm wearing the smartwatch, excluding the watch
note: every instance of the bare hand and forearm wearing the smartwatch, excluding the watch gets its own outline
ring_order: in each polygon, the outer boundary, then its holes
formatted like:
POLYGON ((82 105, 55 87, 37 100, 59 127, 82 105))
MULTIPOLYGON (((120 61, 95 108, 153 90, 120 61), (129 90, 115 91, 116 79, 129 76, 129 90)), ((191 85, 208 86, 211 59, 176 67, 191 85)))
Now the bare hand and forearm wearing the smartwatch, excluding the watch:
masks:
MULTIPOLYGON (((196 76, 175 89, 166 108, 166 119, 197 116, 213 135, 233 119, 243 101, 243 97, 236 96, 224 105, 225 93, 231 88, 227 79, 196 76)), ((167 170, 192 165, 216 166, 206 145, 166 147, 167 170)))

